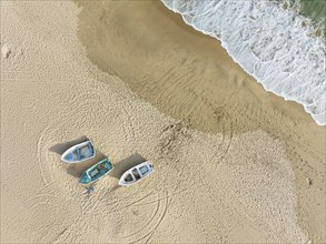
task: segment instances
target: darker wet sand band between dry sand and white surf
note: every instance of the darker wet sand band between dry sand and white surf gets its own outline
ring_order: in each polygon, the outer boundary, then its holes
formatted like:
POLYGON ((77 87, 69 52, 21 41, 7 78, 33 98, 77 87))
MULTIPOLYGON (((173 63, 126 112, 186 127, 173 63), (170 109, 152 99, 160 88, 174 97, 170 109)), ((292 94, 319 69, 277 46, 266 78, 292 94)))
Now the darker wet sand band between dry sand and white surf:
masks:
MULTIPOLYGON (((179 14, 170 12, 161 2, 150 1, 129 6, 100 4, 98 10, 92 6, 92 12, 83 6, 79 18, 79 38, 90 60, 105 72, 108 71, 106 65, 113 67, 116 73, 129 84, 134 92, 162 113, 186 121, 190 128, 208 133, 233 134, 264 130, 273 138, 284 141, 297 177, 298 207, 303 213, 299 215, 305 218, 302 223, 303 228, 308 228, 309 233, 318 230, 317 232, 325 236, 323 217, 317 217, 319 224, 314 224, 312 221, 309 227, 305 224, 309 214, 318 215, 310 212, 307 199, 317 200, 316 204, 319 204, 316 206, 317 212, 323 213, 325 209, 323 194, 318 196, 325 189, 323 184, 325 181, 325 162, 323 161, 325 159, 325 136, 323 136, 325 126, 317 125, 300 104, 285 101, 266 91, 231 60, 219 41, 205 37, 184 23, 179 14), (116 9, 117 13, 110 12, 111 9, 116 9), (129 13, 129 9, 132 9, 132 14, 129 13), (106 24, 98 22, 97 11, 101 11, 101 21, 106 24), (107 16, 106 11, 108 11, 107 16), (110 24, 121 19, 127 12, 128 18, 125 23, 110 24), (148 14, 149 12, 151 14, 148 14), (137 18, 137 21, 141 20, 141 23, 134 21, 132 18, 135 20, 137 18), (90 20, 91 22, 86 22, 90 20), (87 29, 88 26, 93 27, 93 32, 83 31, 83 28, 87 29), (110 32, 113 28, 120 32, 110 32), (96 32, 105 33, 106 38, 98 41, 96 32), (154 34, 157 38, 152 37, 154 34), (135 39, 137 45, 124 42, 121 37, 135 39), (147 47, 140 45, 140 40, 149 40, 150 43, 160 47, 160 50, 149 49, 152 53, 150 51, 148 53, 145 51, 147 47), (119 51, 113 53, 110 47, 119 51), (140 51, 135 51, 136 49, 140 51), (137 58, 128 57, 128 53, 134 52, 137 58), (142 55, 142 52, 146 54, 142 55), (110 55, 106 59, 102 53, 110 53, 110 55), (186 53, 187 59, 184 58, 186 53), (128 57, 134 67, 125 68, 124 59, 124 59, 128 57), (220 57, 223 58, 219 59, 220 57), (178 59, 179 62, 174 61, 178 59), (138 65, 138 62, 146 65, 138 65), (171 68, 174 65, 178 65, 177 71, 171 68), (157 68, 159 69, 156 70, 157 68), (132 73, 131 78, 130 73, 132 73), (237 98, 229 99, 235 96, 237 98), (191 100, 194 98, 205 99, 196 102, 197 100, 191 100), (205 121, 200 118, 205 118, 205 121), (306 146, 307 144, 310 146, 306 146), (310 153, 306 154, 303 149, 309 150, 310 153), (310 189, 307 185, 310 177, 315 177, 317 185, 314 185, 315 190, 306 195, 306 189, 310 189)), ((147 41, 145 43, 148 44, 147 41)), ((314 236, 314 234, 310 235, 314 236)))

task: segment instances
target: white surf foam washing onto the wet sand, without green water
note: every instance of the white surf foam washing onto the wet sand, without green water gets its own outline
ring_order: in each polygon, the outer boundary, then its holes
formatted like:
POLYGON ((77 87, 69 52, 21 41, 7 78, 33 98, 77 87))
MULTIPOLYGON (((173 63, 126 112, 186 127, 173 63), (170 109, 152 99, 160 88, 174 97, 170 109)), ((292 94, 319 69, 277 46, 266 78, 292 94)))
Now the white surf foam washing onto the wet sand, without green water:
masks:
MULTIPOLYGON (((309 48, 304 49, 306 51, 305 53, 302 53, 302 49, 305 48, 305 47, 302 45, 300 42, 293 43, 290 47, 288 47, 288 44, 286 42, 289 41, 289 40, 284 39, 283 42, 285 42, 285 47, 287 47, 287 49, 283 50, 283 51, 278 51, 278 52, 273 54, 273 51, 271 51, 271 53, 266 53, 266 52, 264 52, 264 50, 266 50, 266 49, 270 50, 271 48, 274 50, 277 50, 277 49, 281 49, 281 45, 277 47, 277 44, 275 44, 273 41, 267 41, 265 43, 265 45, 267 45, 267 47, 263 48, 263 50, 261 50, 260 49, 261 47, 259 47, 259 44, 258 45, 255 45, 255 44, 250 45, 250 41, 255 42, 255 39, 250 39, 248 37, 246 37, 246 38, 243 37, 243 35, 248 34, 246 31, 240 32, 240 34, 231 35, 231 31, 227 32, 227 31, 224 30, 226 32, 226 34, 223 34, 224 31, 223 31, 221 27, 217 28, 217 26, 211 24, 211 22, 215 22, 215 21, 219 20, 218 18, 211 17, 214 11, 216 12, 216 14, 219 16, 219 14, 223 14, 223 12, 227 11, 227 10, 221 10, 221 12, 219 12, 218 11, 219 8, 215 8, 215 6, 213 4, 211 9, 214 9, 214 10, 210 11, 210 12, 207 12, 205 9, 202 10, 202 7, 205 4, 201 3, 201 6, 199 4, 199 6, 195 7, 194 9, 189 8, 189 10, 187 11, 187 10, 179 10, 178 9, 178 8, 180 8, 180 9, 186 8, 187 9, 187 4, 185 2, 184 3, 182 3, 182 1, 178 2, 178 4, 180 4, 180 6, 174 4, 172 2, 165 3, 165 0, 162 0, 162 3, 165 4, 165 7, 167 9, 169 9, 169 10, 171 10, 172 12, 180 14, 186 24, 192 27, 196 31, 198 31, 198 32, 200 32, 202 34, 207 34, 207 35, 213 37, 214 39, 218 40, 220 42, 221 47, 225 50, 227 50, 227 53, 230 55, 233 61, 238 63, 241 67, 241 69, 246 71, 246 73, 248 73, 250 77, 254 78, 254 80, 256 80, 258 83, 260 83, 266 91, 271 92, 271 93, 283 98, 285 101, 294 101, 294 102, 303 105, 305 111, 308 114, 310 114, 310 116, 314 119, 314 121, 318 125, 325 125, 325 111, 323 111, 323 110, 319 111, 320 109, 323 109, 323 105, 320 105, 320 104, 325 103, 325 99, 323 101, 324 93, 323 92, 320 92, 320 93, 315 92, 314 94, 310 94, 310 90, 315 90, 315 91, 322 90, 322 91, 326 92, 325 85, 323 87, 323 84, 320 84, 320 83, 323 83, 323 79, 322 79, 323 78, 323 71, 324 71, 323 70, 323 68, 324 68, 323 64, 324 64, 324 60, 325 60, 325 52, 323 52, 323 50, 326 50, 326 47, 325 47, 323 37, 322 38, 318 38, 318 37, 313 38, 313 37, 310 37, 313 34, 313 32, 315 31, 315 28, 313 26, 303 26, 303 24, 300 24, 300 23, 304 23, 304 22, 308 21, 307 18, 305 18, 303 16, 299 16, 299 14, 296 14, 296 11, 294 9, 289 9, 288 11, 284 11, 281 17, 279 17, 279 16, 271 17, 271 20, 273 20, 273 18, 277 18, 278 20, 279 19, 293 19, 294 20, 293 14, 296 18, 298 18, 299 20, 290 22, 292 28, 296 29, 297 31, 298 30, 302 31, 300 33, 302 33, 303 38, 305 38, 305 40, 306 40, 305 43, 306 43, 307 47, 309 47, 309 48), (171 6, 175 6, 175 7, 171 7, 171 6), (201 16, 200 11, 201 10, 205 12, 205 16, 208 16, 210 18, 210 21, 207 21, 205 18, 201 20, 204 22, 206 20, 207 24, 204 24, 200 21, 200 16, 201 16), (182 14, 182 11, 187 12, 187 14, 182 14), (189 16, 194 16, 194 17, 189 18, 189 16), (199 19, 199 21, 196 20, 196 19, 199 19), (241 40, 241 41, 231 42, 231 40, 241 40), (310 45, 310 42, 313 42, 315 44, 310 45), (245 43, 245 44, 243 44, 243 43, 245 43), (318 45, 318 44, 320 45, 320 51, 319 52, 317 51, 319 49, 317 49, 317 50, 314 49, 314 47, 318 45), (299 47, 299 45, 302 45, 302 47, 299 47), (256 51, 259 54, 255 53, 253 51, 253 49, 254 50, 257 49, 256 51), (290 55, 290 53, 289 53, 292 51, 290 49, 296 50, 297 57, 293 57, 293 59, 295 59, 295 60, 302 60, 304 57, 307 55, 306 53, 309 52, 310 50, 315 50, 315 51, 309 53, 309 55, 318 57, 318 59, 317 60, 309 60, 309 62, 306 60, 306 63, 300 63, 300 65, 299 64, 298 65, 294 64, 294 67, 292 67, 292 69, 295 69, 295 70, 292 70, 289 68, 289 65, 288 65, 288 62, 293 62, 292 59, 289 59, 287 61, 287 63, 283 63, 283 60, 286 59, 285 55, 284 55, 284 52, 286 52, 288 55, 290 55), (246 53, 246 54, 244 54, 244 53, 246 53), (268 60, 267 58, 269 55, 273 55, 274 58, 271 60, 268 60), (283 58, 275 60, 276 57, 283 57, 283 58), (257 61, 257 60, 259 60, 260 62, 257 61), (257 63, 258 63, 258 65, 256 65, 257 63), (283 67, 280 67, 278 63, 283 63, 283 67), (314 65, 310 64, 310 63, 314 63, 314 65), (284 65, 286 65, 287 69, 284 69, 284 65), (269 69, 270 67, 278 67, 280 70, 276 71, 274 69, 269 69), (308 77, 303 77, 303 73, 300 73, 300 70, 303 69, 303 67, 305 69, 307 69, 307 70, 310 70, 310 77, 309 78, 308 77), (314 69, 312 70, 312 67, 314 67, 315 70, 314 69), (317 67, 319 69, 317 69, 317 67), (322 67, 322 69, 320 69, 320 67, 322 67), (278 75, 277 73, 283 73, 283 74, 278 75), (317 73, 319 73, 319 75, 317 75, 317 73), (270 75, 274 77, 274 79, 270 79, 270 75), (294 81, 289 81, 290 79, 288 79, 288 78, 294 77, 294 75, 296 77, 296 79, 294 81), (318 82, 310 82, 308 84, 306 84, 306 83, 302 84, 302 85, 306 87, 305 98, 300 98, 302 92, 297 92, 298 89, 293 89, 293 90, 289 90, 289 91, 285 90, 286 87, 293 87, 296 83, 298 83, 299 80, 316 80, 316 79, 317 79, 318 82), (276 83, 275 80, 281 80, 283 82, 276 83), (317 85, 315 89, 313 89, 315 83, 319 83, 319 85, 317 85), (284 89, 283 90, 275 89, 275 88, 279 88, 279 87, 283 87, 284 89), (296 91, 296 92, 294 92, 294 91, 296 91), (307 93, 308 93, 308 98, 310 98, 314 102, 307 102, 307 93), (318 98, 318 100, 314 100, 316 98, 318 98), (312 106, 313 106, 313 109, 312 109, 312 106), (320 113, 316 113, 316 111, 319 111, 320 113)), ((254 6, 256 6, 256 3, 254 6)), ((274 4, 270 3, 269 8, 271 6, 274 6, 274 4)), ((239 4, 238 7, 241 7, 241 4, 239 4)), ((243 6, 243 8, 244 8, 244 6, 243 6)), ((243 21, 247 21, 246 24, 244 26, 244 28, 246 28, 248 26, 257 26, 256 27, 257 29, 266 28, 266 27, 264 27, 264 23, 261 23, 263 22, 261 19, 268 18, 268 14, 267 16, 257 14, 257 10, 259 12, 259 7, 253 7, 253 8, 254 9, 257 8, 256 11, 253 10, 253 11, 249 11, 249 12, 246 12, 246 13, 237 12, 237 13, 235 13, 234 18, 229 18, 229 19, 226 18, 225 21, 226 22, 229 21, 228 24, 233 24, 234 23, 233 20, 235 20, 236 17, 238 16, 238 18, 240 18, 243 21), (258 17, 256 17, 256 18, 260 19, 260 20, 259 21, 254 21, 254 22, 245 20, 245 19, 247 19, 248 14, 249 16, 257 14, 258 17), (261 26, 257 24, 257 22, 260 23, 261 26)), ((274 8, 277 9, 277 4, 274 6, 274 8)), ((271 8, 271 10, 274 8, 271 8)), ((237 11, 237 9, 238 8, 230 9, 229 12, 237 11)), ((277 12, 278 10, 275 10, 275 11, 277 12)), ((268 11, 266 11, 266 12, 268 12, 268 11)), ((254 19, 256 20, 256 18, 254 18, 254 19)), ((224 21, 220 21, 221 26, 223 26, 223 22, 224 21)), ((286 21, 286 22, 288 22, 288 21, 286 21)), ((241 24, 241 21, 238 24, 241 24)), ((274 24, 274 26, 270 26, 269 28, 274 29, 277 26, 278 24, 274 24)), ((283 28, 285 28, 285 27, 283 27, 283 28)), ((283 29, 283 28, 280 28, 280 29, 283 29)), ((254 31, 254 30, 251 30, 251 31, 254 31)), ((280 30, 278 30, 278 32, 280 30)), ((297 32, 297 31, 295 31, 295 32, 297 32)), ((268 33, 268 31, 263 31, 263 33, 265 33, 265 35, 260 34, 260 37, 259 37, 259 34, 258 34, 256 38, 261 39, 261 41, 264 39, 270 39, 271 38, 270 37, 271 33, 268 33)), ((255 31, 254 31, 253 34, 255 34, 255 31)), ((280 32, 278 34, 284 37, 284 35, 287 35, 287 34, 292 35, 292 34, 294 34, 294 32, 285 31, 285 32, 280 32)), ((296 37, 294 34, 294 37, 290 37, 290 39, 296 40, 296 39, 299 39, 299 37, 296 37)), ((292 51, 292 54, 293 54, 293 51, 292 51)), ((293 62, 293 63, 295 63, 295 62, 293 62)), ((325 73, 325 75, 326 75, 326 73, 325 73)), ((298 85, 298 84, 296 84, 296 85, 298 85)))

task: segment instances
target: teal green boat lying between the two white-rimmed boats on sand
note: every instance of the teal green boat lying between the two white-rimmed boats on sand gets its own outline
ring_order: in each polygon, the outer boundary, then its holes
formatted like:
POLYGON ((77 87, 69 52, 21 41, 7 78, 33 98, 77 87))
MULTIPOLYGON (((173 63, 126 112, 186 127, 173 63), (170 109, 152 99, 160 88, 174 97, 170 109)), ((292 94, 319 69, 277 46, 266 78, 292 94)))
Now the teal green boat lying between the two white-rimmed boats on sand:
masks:
POLYGON ((111 164, 109 159, 101 160, 100 162, 96 163, 95 165, 86 170, 80 176, 79 182, 81 184, 89 184, 96 182, 112 170, 113 165, 111 164))

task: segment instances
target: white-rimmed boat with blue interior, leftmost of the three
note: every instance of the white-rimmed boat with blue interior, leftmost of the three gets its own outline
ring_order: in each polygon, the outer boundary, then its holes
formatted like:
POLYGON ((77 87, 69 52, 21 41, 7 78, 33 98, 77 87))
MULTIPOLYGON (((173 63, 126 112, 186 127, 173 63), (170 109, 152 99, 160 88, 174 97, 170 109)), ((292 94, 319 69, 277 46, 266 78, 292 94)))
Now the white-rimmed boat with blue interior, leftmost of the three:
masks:
POLYGON ((95 157, 95 150, 91 141, 81 142, 68 149, 61 156, 66 163, 80 163, 95 157))

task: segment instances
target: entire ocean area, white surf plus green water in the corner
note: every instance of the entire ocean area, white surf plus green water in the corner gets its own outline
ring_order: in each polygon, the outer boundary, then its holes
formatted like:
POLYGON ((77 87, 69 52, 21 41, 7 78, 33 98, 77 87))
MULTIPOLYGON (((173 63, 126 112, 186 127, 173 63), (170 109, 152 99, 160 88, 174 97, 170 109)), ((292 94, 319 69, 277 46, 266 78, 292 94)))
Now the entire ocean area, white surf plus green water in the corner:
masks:
POLYGON ((326 124, 326 1, 161 1, 220 40, 265 90, 303 104, 317 124, 326 124))

